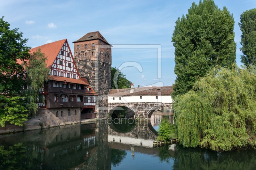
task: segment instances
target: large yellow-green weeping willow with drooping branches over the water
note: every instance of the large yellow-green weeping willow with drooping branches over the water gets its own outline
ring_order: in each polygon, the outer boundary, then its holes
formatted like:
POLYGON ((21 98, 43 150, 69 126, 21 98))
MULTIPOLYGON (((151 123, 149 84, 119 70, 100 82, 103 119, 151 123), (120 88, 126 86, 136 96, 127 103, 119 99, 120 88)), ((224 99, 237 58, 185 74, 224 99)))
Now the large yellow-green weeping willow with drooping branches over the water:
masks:
POLYGON ((180 144, 228 151, 256 147, 256 74, 215 67, 175 98, 180 144))

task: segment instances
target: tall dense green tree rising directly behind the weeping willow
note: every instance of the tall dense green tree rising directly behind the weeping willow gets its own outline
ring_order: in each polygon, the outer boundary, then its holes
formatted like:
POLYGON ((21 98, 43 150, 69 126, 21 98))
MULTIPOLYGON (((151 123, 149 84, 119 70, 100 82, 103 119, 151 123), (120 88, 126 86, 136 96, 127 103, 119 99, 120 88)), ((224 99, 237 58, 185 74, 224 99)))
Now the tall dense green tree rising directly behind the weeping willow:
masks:
POLYGON ((232 67, 236 59, 234 24, 233 14, 212 0, 193 3, 188 14, 178 18, 172 36, 177 76, 172 97, 188 92, 215 65, 232 67))

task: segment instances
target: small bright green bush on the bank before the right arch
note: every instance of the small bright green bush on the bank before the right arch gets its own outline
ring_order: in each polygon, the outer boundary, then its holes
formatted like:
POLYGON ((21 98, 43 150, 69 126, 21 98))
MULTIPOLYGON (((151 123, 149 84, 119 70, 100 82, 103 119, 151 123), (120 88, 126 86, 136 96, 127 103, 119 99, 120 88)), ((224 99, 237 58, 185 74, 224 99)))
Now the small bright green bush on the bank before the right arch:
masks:
POLYGON ((159 125, 157 140, 168 141, 170 138, 175 138, 176 133, 177 128, 167 118, 163 118, 159 125))

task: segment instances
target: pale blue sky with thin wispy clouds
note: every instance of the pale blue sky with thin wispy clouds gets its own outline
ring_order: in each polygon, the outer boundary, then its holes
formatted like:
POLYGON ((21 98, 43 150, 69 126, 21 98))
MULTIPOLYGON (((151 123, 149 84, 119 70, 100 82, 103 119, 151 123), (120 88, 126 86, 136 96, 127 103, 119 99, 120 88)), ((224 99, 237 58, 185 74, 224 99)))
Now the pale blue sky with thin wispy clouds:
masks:
MULTIPOLYGON (((178 17, 188 13, 190 0, 48 1, 1 0, 0 16, 23 32, 27 46, 37 47, 99 31, 113 45, 112 67, 121 69, 134 86, 170 86, 175 82, 172 33, 178 17)), ((256 7, 255 0, 215 0, 235 19, 236 63, 241 65, 240 15, 256 7)))

